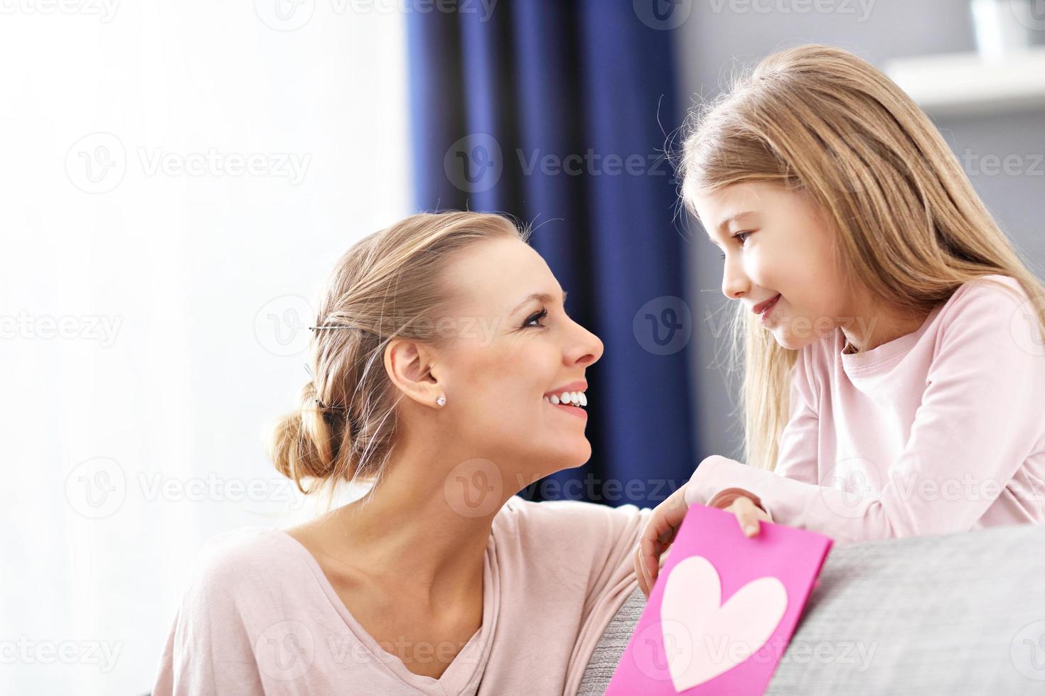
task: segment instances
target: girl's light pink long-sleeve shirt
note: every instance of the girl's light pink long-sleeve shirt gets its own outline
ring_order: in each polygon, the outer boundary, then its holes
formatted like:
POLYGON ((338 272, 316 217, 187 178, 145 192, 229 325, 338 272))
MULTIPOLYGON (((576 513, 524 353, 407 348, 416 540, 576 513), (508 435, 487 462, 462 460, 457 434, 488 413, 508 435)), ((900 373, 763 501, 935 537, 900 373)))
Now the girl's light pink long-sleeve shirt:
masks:
POLYGON ((965 283, 913 333, 843 347, 836 329, 800 349, 775 471, 709 457, 687 502, 741 488, 842 544, 1045 521, 1045 344, 1015 279, 965 283))

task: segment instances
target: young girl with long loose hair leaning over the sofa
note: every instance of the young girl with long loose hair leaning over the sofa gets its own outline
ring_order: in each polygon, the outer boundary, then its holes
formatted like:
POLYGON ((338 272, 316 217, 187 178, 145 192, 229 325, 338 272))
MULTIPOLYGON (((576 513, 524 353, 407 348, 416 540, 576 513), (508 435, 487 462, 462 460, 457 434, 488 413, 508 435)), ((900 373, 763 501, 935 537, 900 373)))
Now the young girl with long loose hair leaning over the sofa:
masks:
POLYGON ((926 115, 808 45, 694 116, 681 195, 736 301, 745 461, 656 508, 643 590, 694 503, 838 543, 1045 519, 1045 288, 926 115))

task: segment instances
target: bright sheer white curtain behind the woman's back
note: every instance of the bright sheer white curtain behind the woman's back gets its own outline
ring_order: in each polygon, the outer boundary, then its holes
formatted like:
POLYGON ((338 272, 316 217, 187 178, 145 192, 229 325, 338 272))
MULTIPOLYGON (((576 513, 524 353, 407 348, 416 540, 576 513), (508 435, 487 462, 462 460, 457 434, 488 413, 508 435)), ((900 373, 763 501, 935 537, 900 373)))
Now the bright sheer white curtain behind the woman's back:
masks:
POLYGON ((2 13, 0 693, 144 694, 203 542, 305 514, 262 435, 327 271, 410 212, 404 18, 2 13))

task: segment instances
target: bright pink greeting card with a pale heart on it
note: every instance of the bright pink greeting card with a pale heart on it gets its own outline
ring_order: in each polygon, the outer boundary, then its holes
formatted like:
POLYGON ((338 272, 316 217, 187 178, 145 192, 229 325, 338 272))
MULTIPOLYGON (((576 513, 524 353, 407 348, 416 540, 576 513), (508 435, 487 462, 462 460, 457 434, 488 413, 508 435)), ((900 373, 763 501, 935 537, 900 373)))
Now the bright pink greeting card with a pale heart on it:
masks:
POLYGON ((607 696, 762 694, 832 539, 691 505, 607 696))

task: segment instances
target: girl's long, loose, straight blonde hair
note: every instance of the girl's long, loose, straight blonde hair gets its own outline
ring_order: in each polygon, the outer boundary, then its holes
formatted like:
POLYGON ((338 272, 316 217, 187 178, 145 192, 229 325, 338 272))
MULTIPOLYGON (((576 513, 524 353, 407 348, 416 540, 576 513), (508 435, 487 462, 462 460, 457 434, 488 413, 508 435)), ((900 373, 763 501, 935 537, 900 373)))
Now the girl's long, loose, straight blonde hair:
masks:
MULTIPOLYGON (((849 51, 798 46, 742 71, 691 113, 679 176, 694 213, 694 194, 730 184, 772 183, 810 196, 836 231, 834 258, 849 287, 888 308, 927 316, 962 283, 998 273, 1019 281, 1045 333, 1045 288, 938 130, 896 83, 849 51)), ((734 305, 734 360, 744 346, 743 458, 772 471, 798 352, 734 305)))

